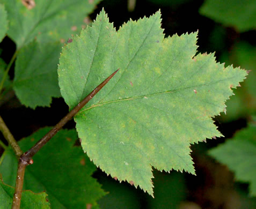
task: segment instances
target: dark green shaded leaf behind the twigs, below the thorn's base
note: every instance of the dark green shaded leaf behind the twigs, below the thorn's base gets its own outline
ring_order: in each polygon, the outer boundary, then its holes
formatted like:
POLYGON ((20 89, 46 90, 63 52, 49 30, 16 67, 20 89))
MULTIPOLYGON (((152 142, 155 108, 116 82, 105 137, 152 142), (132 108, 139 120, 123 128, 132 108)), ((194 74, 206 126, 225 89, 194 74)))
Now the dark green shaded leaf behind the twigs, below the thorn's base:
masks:
MULTIPOLYGON (((41 129, 19 141, 23 151, 28 150, 50 129, 41 129)), ((105 195, 100 184, 91 177, 96 167, 84 155, 81 147, 74 146, 75 130, 61 130, 38 152, 34 163, 26 168, 24 189, 46 191, 54 208, 86 208, 97 206, 96 201, 105 195)), ((11 148, 4 152, 0 172, 4 182, 15 184, 17 160, 11 148)))

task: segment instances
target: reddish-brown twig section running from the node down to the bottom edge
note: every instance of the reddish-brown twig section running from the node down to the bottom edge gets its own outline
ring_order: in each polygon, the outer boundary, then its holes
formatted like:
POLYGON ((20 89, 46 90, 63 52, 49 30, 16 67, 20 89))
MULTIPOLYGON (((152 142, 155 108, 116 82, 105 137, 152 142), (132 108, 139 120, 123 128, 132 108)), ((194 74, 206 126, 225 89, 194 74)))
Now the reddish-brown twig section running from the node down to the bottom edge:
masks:
POLYGON ((20 200, 21 200, 26 166, 27 166, 27 163, 23 162, 20 159, 19 164, 18 164, 17 177, 16 177, 16 186, 15 186, 15 191, 14 191, 13 199, 12 199, 13 200, 12 201, 12 209, 20 208, 20 200))

